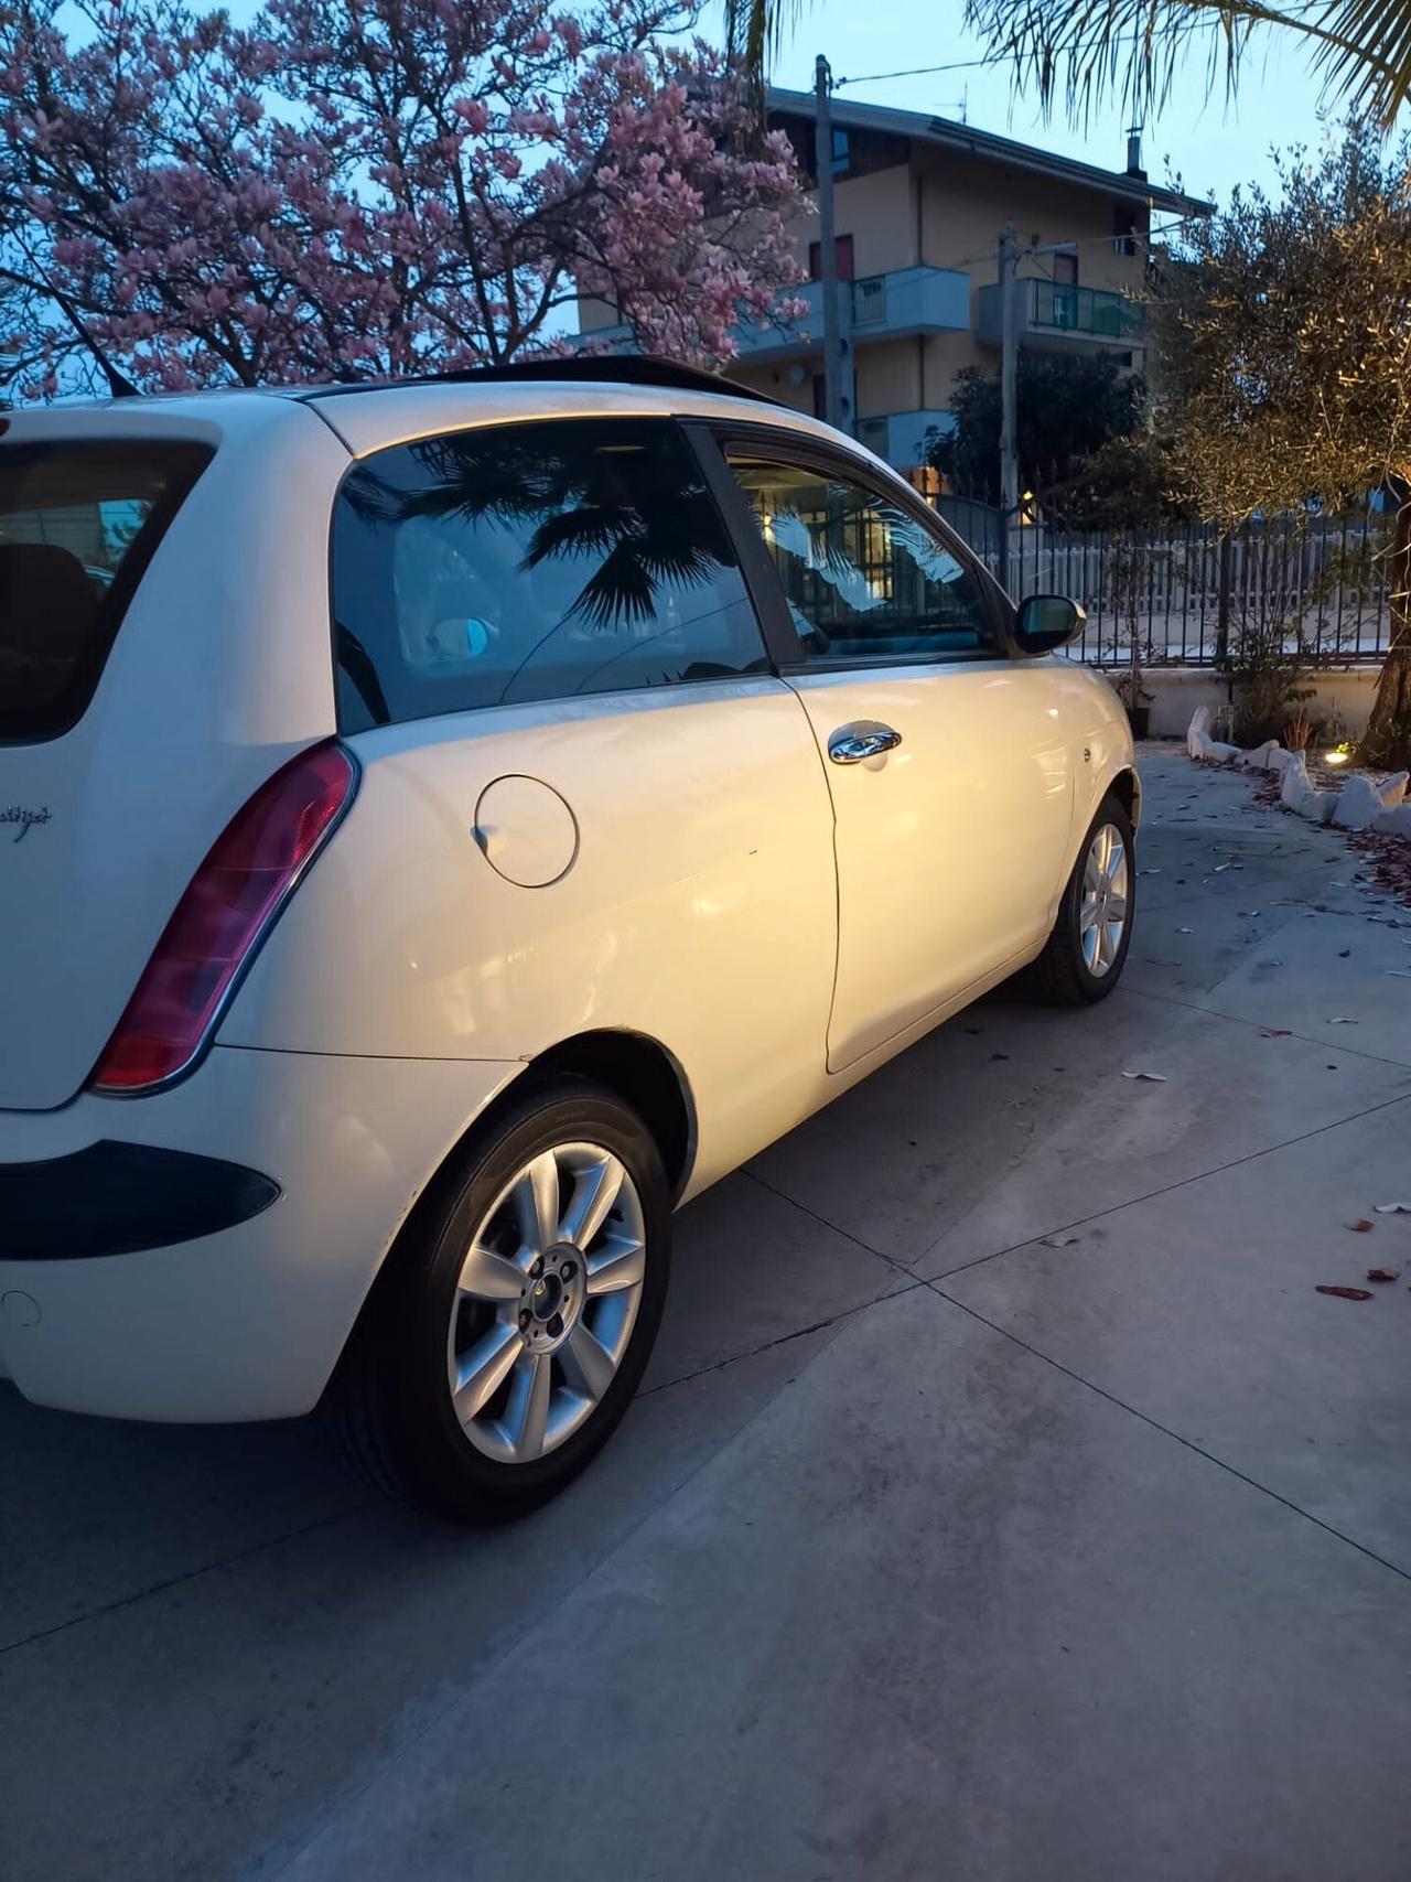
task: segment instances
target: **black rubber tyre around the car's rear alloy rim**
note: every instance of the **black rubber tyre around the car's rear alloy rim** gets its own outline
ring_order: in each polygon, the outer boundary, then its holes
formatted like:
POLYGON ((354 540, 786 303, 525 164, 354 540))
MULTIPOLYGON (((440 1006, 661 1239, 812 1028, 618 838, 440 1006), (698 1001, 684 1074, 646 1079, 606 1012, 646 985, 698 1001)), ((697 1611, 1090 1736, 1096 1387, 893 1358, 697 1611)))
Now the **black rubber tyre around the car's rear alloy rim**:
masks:
POLYGON ((378 1489, 453 1523, 504 1523, 555 1496, 623 1419, 651 1355, 672 1263, 672 1197, 642 1118, 587 1078, 538 1084, 433 1184, 369 1297, 329 1412, 378 1489), (617 1372, 585 1421, 534 1462, 472 1443, 452 1402, 446 1342, 470 1236, 515 1172, 553 1144, 593 1142, 626 1169, 642 1204, 645 1270, 617 1372))

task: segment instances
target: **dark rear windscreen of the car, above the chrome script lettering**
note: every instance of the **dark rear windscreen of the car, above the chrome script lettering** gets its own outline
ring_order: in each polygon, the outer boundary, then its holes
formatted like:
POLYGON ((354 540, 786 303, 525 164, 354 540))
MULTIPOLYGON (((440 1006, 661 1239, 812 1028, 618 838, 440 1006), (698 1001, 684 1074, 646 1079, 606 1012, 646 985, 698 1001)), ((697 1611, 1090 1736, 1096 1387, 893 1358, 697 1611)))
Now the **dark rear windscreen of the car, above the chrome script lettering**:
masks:
POLYGON ((147 439, 0 442, 0 742, 40 743, 83 717, 211 455, 147 439))

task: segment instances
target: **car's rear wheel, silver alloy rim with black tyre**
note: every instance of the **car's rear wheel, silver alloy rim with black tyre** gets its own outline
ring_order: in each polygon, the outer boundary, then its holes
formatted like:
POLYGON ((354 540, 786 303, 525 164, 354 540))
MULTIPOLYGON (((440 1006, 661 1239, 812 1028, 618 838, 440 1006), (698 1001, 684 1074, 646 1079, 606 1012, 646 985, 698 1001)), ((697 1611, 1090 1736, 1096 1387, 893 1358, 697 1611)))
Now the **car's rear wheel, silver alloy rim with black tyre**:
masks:
POLYGON ((608 1440, 657 1336, 672 1201, 611 1092, 525 1095, 433 1186, 359 1321, 339 1410, 380 1487, 459 1523, 521 1515, 608 1440))

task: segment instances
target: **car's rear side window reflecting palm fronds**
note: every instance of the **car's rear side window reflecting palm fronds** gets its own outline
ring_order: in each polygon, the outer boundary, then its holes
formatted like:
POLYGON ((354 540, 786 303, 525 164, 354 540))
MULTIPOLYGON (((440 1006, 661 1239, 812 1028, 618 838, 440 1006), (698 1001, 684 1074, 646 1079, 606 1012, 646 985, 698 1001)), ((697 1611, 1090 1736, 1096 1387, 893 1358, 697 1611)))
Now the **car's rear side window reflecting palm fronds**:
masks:
POLYGON ((768 672, 734 546, 670 420, 378 452, 333 519, 344 730, 768 672))

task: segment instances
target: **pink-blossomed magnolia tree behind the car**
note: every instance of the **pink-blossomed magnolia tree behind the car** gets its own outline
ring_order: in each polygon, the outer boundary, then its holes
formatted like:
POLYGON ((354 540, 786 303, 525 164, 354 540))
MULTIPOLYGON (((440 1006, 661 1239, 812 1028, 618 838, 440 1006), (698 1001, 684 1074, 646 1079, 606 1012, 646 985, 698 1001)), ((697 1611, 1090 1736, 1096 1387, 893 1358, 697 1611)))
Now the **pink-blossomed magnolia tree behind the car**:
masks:
MULTIPOLYGON (((694 13, 608 0, 0 9, 21 384, 352 378, 563 343, 578 294, 683 359, 800 275, 805 198, 694 13)), ((792 311, 785 301, 783 309, 792 311)))

